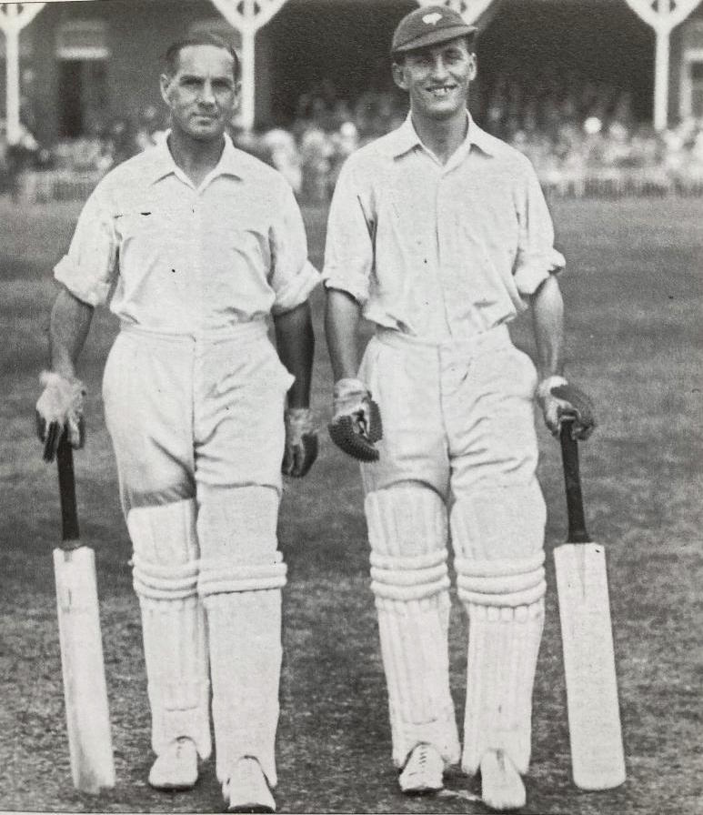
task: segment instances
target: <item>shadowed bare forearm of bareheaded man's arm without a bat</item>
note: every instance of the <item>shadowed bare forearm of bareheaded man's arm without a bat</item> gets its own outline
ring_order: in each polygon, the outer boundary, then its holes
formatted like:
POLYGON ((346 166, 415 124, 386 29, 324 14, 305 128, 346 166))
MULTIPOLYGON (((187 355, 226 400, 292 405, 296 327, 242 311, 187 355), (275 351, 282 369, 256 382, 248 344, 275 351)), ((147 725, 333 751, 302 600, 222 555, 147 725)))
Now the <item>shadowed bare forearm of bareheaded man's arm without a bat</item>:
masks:
POLYGON ((276 315, 274 327, 278 356, 290 373, 296 377, 296 381, 288 391, 288 407, 308 408, 315 355, 315 333, 310 304, 301 303, 300 306, 284 314, 276 315))

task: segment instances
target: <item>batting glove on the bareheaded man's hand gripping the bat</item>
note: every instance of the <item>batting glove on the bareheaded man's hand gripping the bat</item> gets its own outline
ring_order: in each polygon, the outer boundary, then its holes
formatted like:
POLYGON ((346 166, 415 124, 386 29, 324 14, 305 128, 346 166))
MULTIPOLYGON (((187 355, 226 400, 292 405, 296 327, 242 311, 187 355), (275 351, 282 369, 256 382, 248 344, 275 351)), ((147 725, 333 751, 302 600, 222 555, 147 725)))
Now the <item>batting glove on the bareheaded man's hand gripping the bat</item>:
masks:
POLYGON ((44 460, 53 461, 64 432, 72 448, 84 445, 85 387, 78 379, 68 379, 53 371, 44 371, 39 381, 44 390, 36 403, 36 434, 44 442, 44 460))

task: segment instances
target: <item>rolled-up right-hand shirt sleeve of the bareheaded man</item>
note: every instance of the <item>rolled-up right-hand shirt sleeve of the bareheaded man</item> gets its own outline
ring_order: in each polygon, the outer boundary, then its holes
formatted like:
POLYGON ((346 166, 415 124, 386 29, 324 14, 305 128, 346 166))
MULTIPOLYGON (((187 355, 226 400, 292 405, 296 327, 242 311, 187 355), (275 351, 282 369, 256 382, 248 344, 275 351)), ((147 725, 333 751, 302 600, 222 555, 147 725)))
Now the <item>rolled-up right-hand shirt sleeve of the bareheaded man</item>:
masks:
POLYGON ((279 216, 271 227, 270 285, 276 293, 272 314, 284 314, 304 303, 320 281, 320 273, 307 259, 303 216, 293 190, 286 184, 279 216))

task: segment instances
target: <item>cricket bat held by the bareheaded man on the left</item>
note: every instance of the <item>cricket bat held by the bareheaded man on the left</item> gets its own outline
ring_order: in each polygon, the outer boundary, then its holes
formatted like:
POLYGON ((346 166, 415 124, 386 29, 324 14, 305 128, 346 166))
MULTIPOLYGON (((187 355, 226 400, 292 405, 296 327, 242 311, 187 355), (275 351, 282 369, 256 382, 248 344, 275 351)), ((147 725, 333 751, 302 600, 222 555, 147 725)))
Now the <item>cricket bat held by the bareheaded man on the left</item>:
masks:
POLYGON ((65 434, 56 451, 56 460, 62 544, 54 549, 54 575, 71 775, 77 790, 96 794, 103 787, 115 786, 115 766, 95 553, 80 539, 73 450, 65 434))

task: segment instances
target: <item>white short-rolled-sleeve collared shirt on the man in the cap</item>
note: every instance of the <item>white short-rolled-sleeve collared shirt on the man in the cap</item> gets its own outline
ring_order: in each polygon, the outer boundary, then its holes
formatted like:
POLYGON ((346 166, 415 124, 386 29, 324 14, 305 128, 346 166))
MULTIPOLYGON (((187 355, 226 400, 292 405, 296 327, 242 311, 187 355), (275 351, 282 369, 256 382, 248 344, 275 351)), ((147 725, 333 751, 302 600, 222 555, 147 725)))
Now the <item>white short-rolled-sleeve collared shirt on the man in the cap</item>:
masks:
POLYGON ((379 326, 460 339, 511 320, 564 266, 529 160, 469 117, 446 165, 410 116, 342 167, 329 214, 326 287, 379 326))

